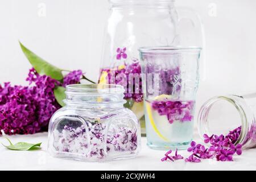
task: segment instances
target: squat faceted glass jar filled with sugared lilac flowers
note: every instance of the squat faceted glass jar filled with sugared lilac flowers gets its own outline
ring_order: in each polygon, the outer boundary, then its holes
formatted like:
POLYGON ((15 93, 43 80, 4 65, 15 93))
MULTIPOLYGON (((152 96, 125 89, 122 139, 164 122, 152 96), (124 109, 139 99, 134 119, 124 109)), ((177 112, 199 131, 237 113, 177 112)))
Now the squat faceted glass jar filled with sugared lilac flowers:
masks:
POLYGON ((85 161, 137 155, 141 128, 135 114, 123 107, 123 92, 121 85, 68 85, 66 105, 49 122, 50 154, 85 161))

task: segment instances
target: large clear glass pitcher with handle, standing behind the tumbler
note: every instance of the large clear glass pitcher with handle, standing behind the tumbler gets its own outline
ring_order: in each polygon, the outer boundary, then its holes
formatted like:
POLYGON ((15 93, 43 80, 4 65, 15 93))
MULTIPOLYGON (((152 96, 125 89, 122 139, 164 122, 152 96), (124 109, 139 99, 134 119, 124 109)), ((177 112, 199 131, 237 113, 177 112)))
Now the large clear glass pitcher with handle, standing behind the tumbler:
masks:
POLYGON ((131 82, 129 74, 141 73, 138 48, 178 44, 197 46, 197 38, 202 40, 199 30, 201 22, 195 13, 185 9, 180 11, 179 18, 174 0, 110 0, 109 2, 110 14, 106 24, 98 82, 125 86, 127 100, 125 107, 137 115, 144 134, 141 78, 137 89, 135 85, 130 89, 127 86, 131 82), (189 30, 189 35, 184 29, 189 30), (115 78, 120 73, 126 75, 127 83, 115 78), (110 78, 110 75, 113 78, 110 78))

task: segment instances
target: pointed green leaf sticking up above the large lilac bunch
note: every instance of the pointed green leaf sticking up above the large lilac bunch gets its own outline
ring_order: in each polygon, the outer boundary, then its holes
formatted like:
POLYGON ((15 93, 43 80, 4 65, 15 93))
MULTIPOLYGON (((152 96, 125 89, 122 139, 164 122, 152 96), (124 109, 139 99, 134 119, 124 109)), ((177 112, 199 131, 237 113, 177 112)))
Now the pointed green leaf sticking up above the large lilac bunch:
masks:
POLYGON ((50 76, 55 80, 63 79, 61 69, 49 64, 47 61, 43 60, 34 52, 30 51, 28 48, 23 46, 22 43, 19 42, 19 44, 20 44, 20 47, 22 48, 24 55, 27 57, 28 61, 30 61, 30 64, 32 65, 32 67, 35 68, 36 72, 38 72, 40 75, 50 76))

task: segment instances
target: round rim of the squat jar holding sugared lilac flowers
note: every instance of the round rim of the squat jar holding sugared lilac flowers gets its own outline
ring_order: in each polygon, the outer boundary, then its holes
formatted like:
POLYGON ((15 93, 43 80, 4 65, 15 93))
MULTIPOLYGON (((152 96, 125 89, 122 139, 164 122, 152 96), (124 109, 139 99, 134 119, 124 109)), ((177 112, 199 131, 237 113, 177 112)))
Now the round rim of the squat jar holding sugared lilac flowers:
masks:
POLYGON ((125 89, 122 85, 115 84, 71 84, 66 86, 65 94, 116 94, 123 93, 125 89))

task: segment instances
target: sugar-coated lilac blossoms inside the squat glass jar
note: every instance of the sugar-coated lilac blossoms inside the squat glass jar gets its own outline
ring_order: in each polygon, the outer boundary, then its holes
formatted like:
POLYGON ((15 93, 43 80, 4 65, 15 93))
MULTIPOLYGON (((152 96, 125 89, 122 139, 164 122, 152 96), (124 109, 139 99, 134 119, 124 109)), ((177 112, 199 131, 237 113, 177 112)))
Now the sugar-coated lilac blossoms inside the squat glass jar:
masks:
POLYGON ((105 136, 105 129, 104 123, 90 126, 90 138, 88 138, 84 125, 77 129, 64 126, 61 132, 57 129, 54 130, 53 146, 57 151, 82 154, 93 160, 104 159, 113 152, 133 152, 137 149, 137 130, 127 127, 112 127, 105 136))

